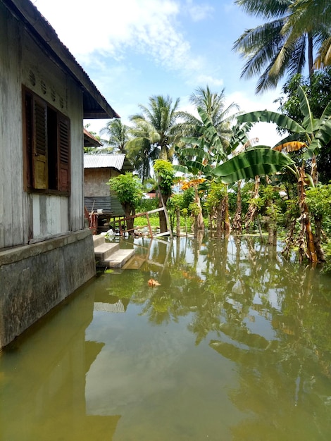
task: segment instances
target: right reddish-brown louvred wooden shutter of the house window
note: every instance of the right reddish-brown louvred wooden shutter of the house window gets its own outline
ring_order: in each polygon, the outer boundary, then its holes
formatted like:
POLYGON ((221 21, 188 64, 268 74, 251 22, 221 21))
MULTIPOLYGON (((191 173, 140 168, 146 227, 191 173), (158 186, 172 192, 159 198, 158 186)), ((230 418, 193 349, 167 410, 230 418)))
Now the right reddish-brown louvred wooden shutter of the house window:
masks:
POLYGON ((58 115, 58 190, 70 191, 70 120, 58 115))

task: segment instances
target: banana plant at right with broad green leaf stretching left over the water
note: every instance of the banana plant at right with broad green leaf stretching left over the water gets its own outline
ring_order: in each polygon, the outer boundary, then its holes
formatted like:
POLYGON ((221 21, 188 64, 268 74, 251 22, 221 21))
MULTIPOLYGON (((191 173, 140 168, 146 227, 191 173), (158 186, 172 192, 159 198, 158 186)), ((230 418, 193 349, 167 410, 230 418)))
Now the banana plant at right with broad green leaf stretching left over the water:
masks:
MULTIPOLYGON (((303 260, 304 255, 312 263, 323 260, 323 251, 316 250, 315 238, 311 229, 308 206, 306 204, 305 186, 306 182, 315 185, 317 182, 316 154, 322 147, 331 142, 331 102, 326 106, 320 118, 313 118, 308 98, 304 89, 299 87, 298 97, 300 100, 301 113, 304 116, 302 124, 296 123, 288 116, 273 111, 256 111, 244 113, 237 117, 238 123, 276 123, 279 128, 292 132, 278 142, 273 149, 266 146, 258 146, 234 156, 229 161, 221 164, 213 170, 213 174, 218 176, 223 182, 235 182, 239 179, 249 179, 256 175, 268 175, 277 173, 287 168, 294 173, 298 182, 299 209, 301 211, 301 233, 299 237, 299 255, 303 260), (305 138, 306 142, 301 139, 305 138), (302 149, 306 147, 304 159, 311 158, 312 173, 311 177, 305 171, 305 161, 300 167, 296 167, 294 161, 283 153, 302 149), (304 244, 304 236, 306 244, 304 244)), ((320 241, 318 240, 317 243, 320 241)))

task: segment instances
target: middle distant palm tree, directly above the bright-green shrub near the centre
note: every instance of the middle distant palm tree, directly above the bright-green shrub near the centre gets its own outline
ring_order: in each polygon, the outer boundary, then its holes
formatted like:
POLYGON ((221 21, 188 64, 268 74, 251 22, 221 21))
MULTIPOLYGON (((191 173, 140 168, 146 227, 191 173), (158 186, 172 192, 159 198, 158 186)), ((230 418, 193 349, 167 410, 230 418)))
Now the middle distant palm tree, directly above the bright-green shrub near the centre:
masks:
POLYGON ((149 134, 150 143, 158 147, 159 158, 164 161, 172 158, 175 142, 181 136, 177 127, 179 103, 179 98, 173 104, 173 100, 168 96, 150 97, 149 106, 139 104, 142 113, 130 118, 135 125, 144 126, 145 134, 149 134))

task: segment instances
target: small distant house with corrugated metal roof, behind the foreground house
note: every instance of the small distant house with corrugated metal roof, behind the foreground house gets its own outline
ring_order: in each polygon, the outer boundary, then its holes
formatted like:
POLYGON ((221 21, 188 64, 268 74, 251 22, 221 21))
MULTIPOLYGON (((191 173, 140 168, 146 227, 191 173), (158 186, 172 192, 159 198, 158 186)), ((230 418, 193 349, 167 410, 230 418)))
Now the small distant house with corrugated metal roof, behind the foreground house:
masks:
POLYGON ((103 224, 107 225, 104 230, 108 230, 111 219, 125 216, 120 201, 109 190, 109 179, 132 170, 125 154, 84 155, 85 207, 89 213, 99 213, 99 231, 103 224))

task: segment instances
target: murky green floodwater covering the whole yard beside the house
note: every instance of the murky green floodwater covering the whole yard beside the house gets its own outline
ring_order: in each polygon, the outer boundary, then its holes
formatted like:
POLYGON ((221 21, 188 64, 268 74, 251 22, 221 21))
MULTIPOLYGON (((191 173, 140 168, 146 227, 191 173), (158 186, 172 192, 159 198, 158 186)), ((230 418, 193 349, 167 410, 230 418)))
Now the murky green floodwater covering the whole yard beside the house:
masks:
POLYGON ((1 441, 331 439, 330 277, 254 237, 125 243, 139 269, 0 353, 1 441))

